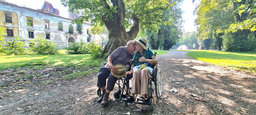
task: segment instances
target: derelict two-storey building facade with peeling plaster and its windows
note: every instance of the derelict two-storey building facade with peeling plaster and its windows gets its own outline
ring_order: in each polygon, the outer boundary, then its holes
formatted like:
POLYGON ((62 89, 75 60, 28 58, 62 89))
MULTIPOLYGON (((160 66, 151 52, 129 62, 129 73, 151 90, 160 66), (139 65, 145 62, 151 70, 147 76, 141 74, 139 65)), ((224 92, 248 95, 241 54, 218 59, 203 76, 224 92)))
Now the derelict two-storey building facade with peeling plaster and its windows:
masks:
MULTIPOLYGON (((44 9, 47 9, 46 6, 47 4, 44 3, 44 9)), ((55 14, 47 13, 0 1, 0 26, 6 28, 5 41, 13 41, 16 36, 20 36, 29 46, 31 40, 44 37, 53 40, 59 48, 68 47, 71 41, 87 42, 90 23, 84 22, 81 27, 76 23, 72 24, 71 18, 58 16, 56 12, 59 13, 58 11, 55 11, 55 14), (82 29, 79 32, 77 28, 82 29)))

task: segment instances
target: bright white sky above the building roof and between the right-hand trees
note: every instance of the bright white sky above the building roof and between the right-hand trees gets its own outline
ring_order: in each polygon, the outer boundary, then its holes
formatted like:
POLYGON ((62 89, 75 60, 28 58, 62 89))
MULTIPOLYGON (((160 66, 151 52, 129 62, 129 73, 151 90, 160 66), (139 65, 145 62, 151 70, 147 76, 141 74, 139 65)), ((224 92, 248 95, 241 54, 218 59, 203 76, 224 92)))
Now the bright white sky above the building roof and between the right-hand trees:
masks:
MULTIPOLYGON (((31 9, 41 9, 45 0, 5 0, 9 3, 14 3, 18 6, 25 5, 25 7, 29 7, 31 9)), ((61 17, 69 18, 68 8, 61 4, 61 0, 46 0, 50 2, 51 5, 59 10, 59 15, 61 17)), ((185 20, 184 29, 185 32, 193 32, 197 30, 197 27, 194 26, 194 20, 197 18, 193 16, 193 11, 195 9, 195 5, 193 5, 191 0, 184 0, 181 6, 182 10, 185 11, 183 14, 183 20, 185 20)))

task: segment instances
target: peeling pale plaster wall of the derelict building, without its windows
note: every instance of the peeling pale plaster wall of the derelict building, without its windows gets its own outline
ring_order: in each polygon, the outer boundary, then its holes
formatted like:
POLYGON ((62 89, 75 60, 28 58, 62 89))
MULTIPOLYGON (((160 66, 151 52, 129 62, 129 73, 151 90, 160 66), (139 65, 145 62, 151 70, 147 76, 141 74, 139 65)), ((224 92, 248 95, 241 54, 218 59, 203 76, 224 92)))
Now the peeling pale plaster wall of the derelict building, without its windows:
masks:
MULTIPOLYGON (((59 48, 65 48, 68 46, 68 39, 72 37, 75 41, 81 40, 87 42, 88 34, 87 29, 91 28, 91 24, 84 23, 82 25, 82 34, 77 32, 77 24, 72 24, 70 18, 64 18, 55 16, 54 14, 44 13, 28 7, 20 7, 12 3, 6 3, 0 1, 0 23, 1 27, 13 28, 14 36, 20 36, 27 46, 31 43, 31 40, 37 37, 46 38, 46 33, 50 33, 50 40, 59 45, 59 48), (5 22, 5 11, 12 13, 13 23, 5 22), (27 18, 33 19, 33 26, 28 26, 27 18), (46 28, 45 22, 49 22, 49 28, 46 28), (59 30, 58 24, 62 23, 62 29, 59 30), (73 26, 74 34, 69 33, 69 25, 73 26), (33 32, 34 38, 29 38, 29 31, 33 32)), ((6 37, 6 41, 12 41, 15 37, 6 37)))

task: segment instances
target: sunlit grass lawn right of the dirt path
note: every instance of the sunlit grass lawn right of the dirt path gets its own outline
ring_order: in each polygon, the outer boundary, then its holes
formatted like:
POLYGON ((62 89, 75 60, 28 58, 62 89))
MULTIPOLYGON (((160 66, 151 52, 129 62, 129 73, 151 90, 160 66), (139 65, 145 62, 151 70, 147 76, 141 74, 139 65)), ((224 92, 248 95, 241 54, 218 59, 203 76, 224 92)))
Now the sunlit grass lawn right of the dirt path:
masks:
POLYGON ((256 72, 256 53, 206 50, 187 51, 192 51, 187 53, 187 55, 193 57, 194 59, 210 64, 228 67, 235 70, 256 72))

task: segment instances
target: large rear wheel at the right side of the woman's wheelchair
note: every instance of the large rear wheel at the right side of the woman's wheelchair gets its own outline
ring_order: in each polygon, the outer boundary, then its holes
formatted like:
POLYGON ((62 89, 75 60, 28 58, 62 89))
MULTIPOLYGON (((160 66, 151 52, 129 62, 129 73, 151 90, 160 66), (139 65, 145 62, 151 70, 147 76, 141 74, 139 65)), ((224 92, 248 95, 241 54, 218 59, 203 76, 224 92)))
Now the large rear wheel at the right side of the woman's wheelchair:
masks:
POLYGON ((161 72, 160 68, 157 71, 156 82, 157 82, 156 97, 159 98, 161 96, 161 93, 162 93, 162 72, 161 72))

